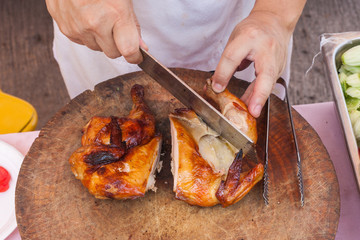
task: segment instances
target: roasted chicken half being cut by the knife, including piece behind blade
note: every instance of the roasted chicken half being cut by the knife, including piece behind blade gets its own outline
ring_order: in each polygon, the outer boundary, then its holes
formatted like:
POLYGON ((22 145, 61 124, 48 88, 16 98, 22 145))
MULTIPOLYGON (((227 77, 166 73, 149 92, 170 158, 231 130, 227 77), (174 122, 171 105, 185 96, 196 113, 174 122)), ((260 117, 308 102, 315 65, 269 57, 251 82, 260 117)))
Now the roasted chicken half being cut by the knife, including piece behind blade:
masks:
MULTIPOLYGON (((215 94, 211 87, 207 87, 206 95, 256 142, 256 120, 241 100, 227 90, 215 94)), ((244 170, 242 151, 210 129, 192 110, 175 110, 170 114, 170 124, 173 191, 177 199, 202 207, 227 207, 262 179, 261 163, 244 170)))

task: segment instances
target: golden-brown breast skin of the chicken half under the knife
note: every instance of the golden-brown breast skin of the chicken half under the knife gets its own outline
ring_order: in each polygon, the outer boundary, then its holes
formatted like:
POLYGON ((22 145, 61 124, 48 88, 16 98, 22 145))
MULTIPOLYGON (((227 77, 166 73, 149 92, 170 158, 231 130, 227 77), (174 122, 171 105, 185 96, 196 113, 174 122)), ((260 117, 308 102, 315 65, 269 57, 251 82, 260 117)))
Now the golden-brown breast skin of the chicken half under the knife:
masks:
MULTIPOLYGON (((177 199, 191 205, 210 207, 218 203, 215 193, 221 183, 222 174, 202 158, 198 143, 189 127, 186 128, 186 119, 194 120, 197 125, 198 118, 193 111, 180 109, 170 115, 173 190, 177 199)), ((201 128, 200 125, 198 127, 201 128)))

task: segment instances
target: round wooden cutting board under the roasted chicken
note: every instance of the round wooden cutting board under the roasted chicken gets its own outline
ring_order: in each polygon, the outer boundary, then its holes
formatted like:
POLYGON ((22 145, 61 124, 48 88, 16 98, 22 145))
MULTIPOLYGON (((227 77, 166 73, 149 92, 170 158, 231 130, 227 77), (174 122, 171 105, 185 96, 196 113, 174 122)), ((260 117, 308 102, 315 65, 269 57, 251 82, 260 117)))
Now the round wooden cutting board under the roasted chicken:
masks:
MULTIPOLYGON (((210 73, 174 69, 200 91, 210 73)), ((247 83, 232 79, 241 95, 247 83)), ((143 72, 103 82, 60 109, 41 130, 18 177, 16 216, 23 239, 332 239, 340 197, 334 166, 314 129, 293 109, 302 157, 305 206, 300 207, 296 154, 286 105, 272 96, 270 126, 270 205, 263 184, 228 208, 200 208, 176 200, 170 173, 168 114, 182 105, 143 72), (125 116, 130 88, 145 87, 145 99, 163 134, 157 192, 127 201, 95 199, 73 176, 68 158, 80 147, 81 129, 94 115, 125 116)), ((316 113, 314 113, 316 114, 316 113)), ((263 116, 261 117, 263 118, 263 116)), ((261 118, 259 121, 261 121, 261 118)), ((259 124, 259 134, 264 127, 259 124)), ((259 152, 263 138, 259 140, 259 152)))

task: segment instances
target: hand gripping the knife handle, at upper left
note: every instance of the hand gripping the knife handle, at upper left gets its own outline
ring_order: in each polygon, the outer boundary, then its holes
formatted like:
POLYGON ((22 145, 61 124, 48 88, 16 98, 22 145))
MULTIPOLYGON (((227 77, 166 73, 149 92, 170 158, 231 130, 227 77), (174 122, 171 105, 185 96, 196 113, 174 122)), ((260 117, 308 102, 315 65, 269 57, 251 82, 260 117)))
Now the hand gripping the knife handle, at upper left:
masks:
POLYGON ((140 26, 132 0, 46 0, 50 15, 71 41, 102 51, 109 58, 124 56, 140 63, 140 26))

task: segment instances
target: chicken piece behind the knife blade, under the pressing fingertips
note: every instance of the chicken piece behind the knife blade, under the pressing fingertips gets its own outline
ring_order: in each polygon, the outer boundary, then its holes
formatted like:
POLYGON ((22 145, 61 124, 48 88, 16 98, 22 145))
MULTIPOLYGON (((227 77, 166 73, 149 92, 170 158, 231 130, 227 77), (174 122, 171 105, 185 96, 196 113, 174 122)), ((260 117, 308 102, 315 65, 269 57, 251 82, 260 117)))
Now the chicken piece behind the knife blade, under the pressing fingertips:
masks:
POLYGON ((251 116, 246 104, 234 94, 225 89, 221 93, 215 93, 211 88, 211 79, 207 80, 205 86, 205 98, 215 103, 230 122, 232 122, 242 133, 248 136, 254 143, 257 142, 256 119, 251 116))

